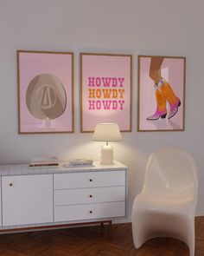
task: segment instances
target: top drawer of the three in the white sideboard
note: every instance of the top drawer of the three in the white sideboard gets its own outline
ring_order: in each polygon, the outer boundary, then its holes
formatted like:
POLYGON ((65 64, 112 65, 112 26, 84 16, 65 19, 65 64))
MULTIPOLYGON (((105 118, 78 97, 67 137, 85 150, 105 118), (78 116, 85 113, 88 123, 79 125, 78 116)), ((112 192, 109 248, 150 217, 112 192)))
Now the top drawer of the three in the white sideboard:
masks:
POLYGON ((54 174, 54 189, 125 185, 125 171, 54 174))

